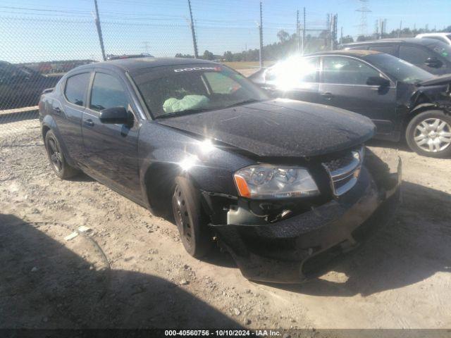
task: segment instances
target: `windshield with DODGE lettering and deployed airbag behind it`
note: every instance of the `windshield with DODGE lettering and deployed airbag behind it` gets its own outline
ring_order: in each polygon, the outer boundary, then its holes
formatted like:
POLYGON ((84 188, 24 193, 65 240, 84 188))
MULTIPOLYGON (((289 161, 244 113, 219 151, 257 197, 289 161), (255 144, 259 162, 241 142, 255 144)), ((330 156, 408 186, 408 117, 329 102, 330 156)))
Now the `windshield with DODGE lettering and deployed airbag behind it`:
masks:
POLYGON ((268 96, 239 73, 219 65, 150 68, 132 75, 154 118, 263 101, 268 96))

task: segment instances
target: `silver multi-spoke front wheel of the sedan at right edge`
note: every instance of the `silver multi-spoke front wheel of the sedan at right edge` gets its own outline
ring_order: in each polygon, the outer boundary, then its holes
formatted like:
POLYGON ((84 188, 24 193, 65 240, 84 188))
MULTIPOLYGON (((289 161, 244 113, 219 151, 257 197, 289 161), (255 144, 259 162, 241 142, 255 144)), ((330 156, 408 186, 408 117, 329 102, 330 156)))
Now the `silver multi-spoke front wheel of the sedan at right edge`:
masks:
POLYGON ((443 111, 420 113, 409 122, 406 140, 410 149, 422 156, 451 156, 451 116, 443 111))

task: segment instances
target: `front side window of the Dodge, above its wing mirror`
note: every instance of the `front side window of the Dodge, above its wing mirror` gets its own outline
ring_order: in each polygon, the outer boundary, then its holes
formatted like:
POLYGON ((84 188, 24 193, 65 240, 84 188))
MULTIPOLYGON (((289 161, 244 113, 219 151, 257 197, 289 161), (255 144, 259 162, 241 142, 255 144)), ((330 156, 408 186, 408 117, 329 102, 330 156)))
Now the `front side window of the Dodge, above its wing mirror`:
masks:
POLYGON ((96 73, 92 84, 89 108, 93 111, 101 111, 113 107, 127 108, 128 104, 127 94, 116 77, 105 73, 96 73))

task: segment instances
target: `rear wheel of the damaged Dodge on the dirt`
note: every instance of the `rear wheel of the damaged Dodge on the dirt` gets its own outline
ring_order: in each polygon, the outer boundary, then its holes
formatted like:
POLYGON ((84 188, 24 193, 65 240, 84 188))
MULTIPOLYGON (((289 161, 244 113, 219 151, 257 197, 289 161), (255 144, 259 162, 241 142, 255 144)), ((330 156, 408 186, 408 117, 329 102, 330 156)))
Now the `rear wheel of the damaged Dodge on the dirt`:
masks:
POLYGON ((44 144, 47 155, 49 156, 50 166, 56 176, 61 178, 61 180, 67 180, 80 173, 78 169, 73 168, 67 163, 61 150, 61 144, 52 130, 49 130, 45 134, 44 144))

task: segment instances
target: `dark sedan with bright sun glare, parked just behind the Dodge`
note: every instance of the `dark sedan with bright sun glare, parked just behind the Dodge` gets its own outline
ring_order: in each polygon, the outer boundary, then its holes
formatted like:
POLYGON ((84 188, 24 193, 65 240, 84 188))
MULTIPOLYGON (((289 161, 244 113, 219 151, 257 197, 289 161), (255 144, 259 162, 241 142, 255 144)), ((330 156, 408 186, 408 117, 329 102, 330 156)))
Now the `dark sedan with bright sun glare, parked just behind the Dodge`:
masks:
POLYGON ((291 58, 251 77, 274 96, 328 104, 365 115, 376 138, 418 154, 451 155, 451 75, 437 77, 378 51, 328 51, 291 58))

